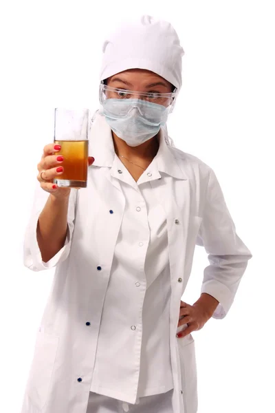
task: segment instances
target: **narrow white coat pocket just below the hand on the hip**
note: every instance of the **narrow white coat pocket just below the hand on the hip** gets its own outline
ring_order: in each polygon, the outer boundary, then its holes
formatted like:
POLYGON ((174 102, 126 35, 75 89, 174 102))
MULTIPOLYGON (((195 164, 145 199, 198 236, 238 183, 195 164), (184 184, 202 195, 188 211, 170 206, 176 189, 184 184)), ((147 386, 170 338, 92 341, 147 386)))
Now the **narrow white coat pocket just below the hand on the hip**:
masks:
POLYGON ((177 339, 181 367, 181 386, 184 397, 184 413, 197 413, 197 363, 195 341, 192 335, 177 339))

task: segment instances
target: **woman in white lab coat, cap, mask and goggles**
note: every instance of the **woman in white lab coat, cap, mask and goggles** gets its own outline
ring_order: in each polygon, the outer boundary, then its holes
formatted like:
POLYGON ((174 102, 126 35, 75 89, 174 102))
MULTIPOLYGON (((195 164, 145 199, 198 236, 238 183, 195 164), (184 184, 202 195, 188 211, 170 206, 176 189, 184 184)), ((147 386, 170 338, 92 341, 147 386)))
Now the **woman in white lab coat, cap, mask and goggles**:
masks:
POLYGON ((225 317, 252 255, 214 171, 166 133, 184 54, 175 30, 144 16, 103 52, 87 189, 52 183, 61 147, 38 165, 24 262, 56 273, 22 413, 195 413, 190 333, 225 317), (210 266, 190 305, 195 244, 210 266))

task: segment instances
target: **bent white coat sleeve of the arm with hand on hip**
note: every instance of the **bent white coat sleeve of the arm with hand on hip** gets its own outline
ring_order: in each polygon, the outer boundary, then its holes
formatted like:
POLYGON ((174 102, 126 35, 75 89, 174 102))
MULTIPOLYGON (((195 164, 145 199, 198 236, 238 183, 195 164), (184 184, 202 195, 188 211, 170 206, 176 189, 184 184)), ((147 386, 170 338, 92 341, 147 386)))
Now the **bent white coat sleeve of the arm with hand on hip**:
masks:
POLYGON ((210 262, 203 271, 201 293, 208 293, 219 301, 212 317, 223 319, 232 306, 252 254, 236 234, 223 192, 212 169, 197 244, 204 246, 210 262))

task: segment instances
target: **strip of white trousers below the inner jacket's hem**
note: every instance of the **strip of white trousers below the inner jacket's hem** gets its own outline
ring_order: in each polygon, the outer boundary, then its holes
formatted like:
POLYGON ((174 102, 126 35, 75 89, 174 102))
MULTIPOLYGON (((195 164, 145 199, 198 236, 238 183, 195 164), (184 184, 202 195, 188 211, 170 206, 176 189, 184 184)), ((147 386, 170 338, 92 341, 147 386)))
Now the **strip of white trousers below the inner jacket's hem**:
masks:
POLYGON ((173 389, 166 393, 140 397, 134 405, 124 401, 89 392, 86 413, 173 413, 173 389))

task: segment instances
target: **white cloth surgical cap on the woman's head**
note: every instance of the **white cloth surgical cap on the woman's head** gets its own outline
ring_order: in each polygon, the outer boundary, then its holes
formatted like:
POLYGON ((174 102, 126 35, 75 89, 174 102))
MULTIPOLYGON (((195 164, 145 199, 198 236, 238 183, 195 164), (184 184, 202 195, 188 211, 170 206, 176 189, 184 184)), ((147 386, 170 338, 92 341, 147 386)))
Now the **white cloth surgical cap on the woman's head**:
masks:
POLYGON ((151 16, 120 25, 103 44, 100 81, 128 69, 146 69, 181 88, 184 49, 167 21, 151 16))

